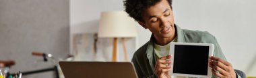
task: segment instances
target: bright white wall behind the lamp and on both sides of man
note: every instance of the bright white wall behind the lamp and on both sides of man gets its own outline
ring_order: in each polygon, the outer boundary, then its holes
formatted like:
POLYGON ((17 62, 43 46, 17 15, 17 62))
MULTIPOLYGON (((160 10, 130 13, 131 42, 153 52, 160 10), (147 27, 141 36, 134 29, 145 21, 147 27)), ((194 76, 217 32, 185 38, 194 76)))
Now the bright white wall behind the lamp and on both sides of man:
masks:
MULTIPOLYGON (((123 0, 71 0, 71 26, 94 23, 101 11, 124 10, 123 0)), ((234 69, 256 76, 256 1, 253 0, 174 0, 175 23, 183 29, 209 31, 216 36, 226 58, 234 69), (254 59, 253 59, 254 58, 254 59)), ((98 27, 88 25, 88 32, 97 32, 98 27)), ((150 38, 150 31, 137 25, 139 47, 150 38)))

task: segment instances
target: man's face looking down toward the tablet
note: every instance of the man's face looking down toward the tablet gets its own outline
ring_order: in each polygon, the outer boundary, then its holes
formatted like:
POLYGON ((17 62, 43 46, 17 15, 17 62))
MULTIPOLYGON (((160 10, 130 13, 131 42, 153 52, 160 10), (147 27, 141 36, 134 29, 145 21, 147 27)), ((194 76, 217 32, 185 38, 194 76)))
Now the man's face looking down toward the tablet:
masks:
POLYGON ((164 39, 174 36, 174 17, 172 8, 166 0, 146 9, 143 13, 143 21, 139 24, 149 29, 155 37, 164 39))

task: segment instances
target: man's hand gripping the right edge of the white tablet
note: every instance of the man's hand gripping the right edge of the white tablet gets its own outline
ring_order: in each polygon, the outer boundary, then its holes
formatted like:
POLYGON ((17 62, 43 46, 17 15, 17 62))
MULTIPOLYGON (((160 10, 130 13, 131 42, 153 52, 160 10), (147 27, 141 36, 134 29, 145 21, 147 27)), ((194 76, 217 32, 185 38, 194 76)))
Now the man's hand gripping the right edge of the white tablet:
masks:
POLYGON ((236 78, 236 73, 228 61, 218 57, 210 57, 209 66, 212 68, 212 73, 220 78, 236 78))

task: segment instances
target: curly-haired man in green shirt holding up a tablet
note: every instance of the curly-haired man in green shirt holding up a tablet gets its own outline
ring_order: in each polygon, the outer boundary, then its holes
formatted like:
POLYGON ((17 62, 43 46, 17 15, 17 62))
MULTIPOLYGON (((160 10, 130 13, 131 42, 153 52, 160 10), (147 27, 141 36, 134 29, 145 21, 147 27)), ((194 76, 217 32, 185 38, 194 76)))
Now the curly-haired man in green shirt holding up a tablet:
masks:
MULTIPOLYGON (((210 57, 212 77, 240 77, 226 61, 216 38, 203 31, 181 29, 174 24, 172 0, 126 0, 125 11, 145 29, 152 32, 148 43, 137 49, 132 62, 138 77, 174 77, 168 74, 171 62, 170 42, 213 43, 214 57, 210 57)), ((195 56, 196 57, 196 56, 195 56)))

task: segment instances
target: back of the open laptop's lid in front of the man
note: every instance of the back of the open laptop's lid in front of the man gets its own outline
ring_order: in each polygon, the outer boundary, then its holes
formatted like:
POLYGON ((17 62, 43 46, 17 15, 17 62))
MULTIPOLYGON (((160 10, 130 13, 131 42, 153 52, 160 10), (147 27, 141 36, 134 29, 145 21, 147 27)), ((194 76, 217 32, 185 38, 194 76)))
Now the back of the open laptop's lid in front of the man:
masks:
POLYGON ((60 61, 65 78, 137 78, 131 62, 60 61))

